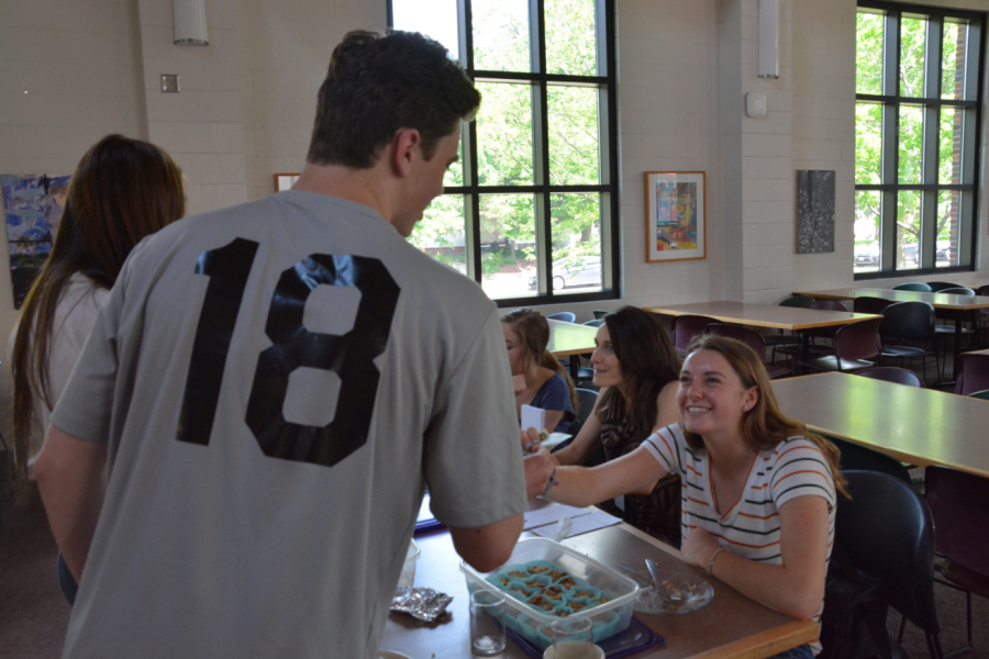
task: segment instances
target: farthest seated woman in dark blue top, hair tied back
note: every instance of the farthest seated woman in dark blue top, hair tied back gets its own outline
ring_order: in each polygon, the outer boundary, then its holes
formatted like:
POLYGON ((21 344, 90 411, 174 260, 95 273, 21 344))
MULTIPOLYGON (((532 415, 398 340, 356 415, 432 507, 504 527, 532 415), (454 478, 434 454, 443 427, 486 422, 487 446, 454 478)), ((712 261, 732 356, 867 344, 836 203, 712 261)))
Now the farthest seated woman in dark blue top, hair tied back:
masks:
MULTIPOLYGON (((549 354, 549 323, 533 309, 518 309, 501 316, 504 346, 512 367, 515 409, 546 410, 546 429, 566 433, 577 409, 577 392, 566 370, 549 354)), ((537 428, 542 429, 542 428, 537 428)))

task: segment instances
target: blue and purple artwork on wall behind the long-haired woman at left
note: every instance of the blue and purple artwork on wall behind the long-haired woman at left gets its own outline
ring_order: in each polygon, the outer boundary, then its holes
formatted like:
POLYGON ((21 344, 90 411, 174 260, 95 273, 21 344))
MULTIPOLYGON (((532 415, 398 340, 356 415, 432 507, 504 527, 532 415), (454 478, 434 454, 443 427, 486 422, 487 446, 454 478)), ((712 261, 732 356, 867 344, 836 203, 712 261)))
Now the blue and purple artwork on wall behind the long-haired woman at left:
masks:
POLYGON ((14 309, 21 308, 52 252, 68 182, 68 176, 0 176, 14 309))

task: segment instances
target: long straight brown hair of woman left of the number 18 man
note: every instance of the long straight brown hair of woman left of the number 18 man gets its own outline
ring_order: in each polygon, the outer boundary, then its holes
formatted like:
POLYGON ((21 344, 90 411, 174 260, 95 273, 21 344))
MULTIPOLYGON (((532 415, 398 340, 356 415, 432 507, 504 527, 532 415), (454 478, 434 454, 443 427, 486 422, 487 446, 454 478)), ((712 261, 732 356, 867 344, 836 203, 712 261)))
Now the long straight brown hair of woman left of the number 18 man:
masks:
POLYGON ((37 401, 49 409, 57 402, 52 400, 48 358, 63 290, 77 272, 111 288, 131 249, 185 214, 181 171, 154 144, 108 135, 79 160, 52 254, 24 300, 14 339, 11 469, 20 501, 27 492, 37 401))

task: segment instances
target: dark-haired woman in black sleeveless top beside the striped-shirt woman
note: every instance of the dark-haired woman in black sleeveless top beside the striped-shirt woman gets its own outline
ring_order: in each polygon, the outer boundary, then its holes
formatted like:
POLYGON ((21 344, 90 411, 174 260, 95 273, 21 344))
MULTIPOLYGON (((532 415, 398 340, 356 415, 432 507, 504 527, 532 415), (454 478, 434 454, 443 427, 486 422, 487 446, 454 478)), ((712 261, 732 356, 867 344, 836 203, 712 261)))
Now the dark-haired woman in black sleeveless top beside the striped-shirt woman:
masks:
MULTIPOLYGON (((560 465, 582 465, 599 446, 607 460, 635 449, 656 429, 676 423, 680 359, 659 320, 635 306, 604 316, 591 356, 594 384, 601 388, 594 409, 574 442, 553 457, 560 465)), ((523 434, 523 446, 531 445, 523 434)), ((677 476, 644 483, 624 498, 624 511, 601 507, 666 543, 679 546, 680 484, 677 476)), ((625 494, 630 491, 618 492, 625 494)), ((612 495, 614 496, 614 495, 612 495)), ((601 498, 593 503, 602 502, 601 498)))

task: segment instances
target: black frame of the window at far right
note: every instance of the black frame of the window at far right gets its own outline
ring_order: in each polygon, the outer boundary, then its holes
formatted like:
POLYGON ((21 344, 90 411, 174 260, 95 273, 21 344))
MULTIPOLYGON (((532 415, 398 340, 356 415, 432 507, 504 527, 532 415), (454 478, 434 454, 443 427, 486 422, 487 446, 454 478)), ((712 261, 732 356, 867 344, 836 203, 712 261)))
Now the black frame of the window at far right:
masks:
MULTIPOLYGON (((986 60, 986 13, 968 10, 946 9, 943 7, 929 7, 913 3, 885 2, 880 0, 859 0, 857 10, 870 10, 873 13, 880 13, 885 16, 886 25, 884 26, 884 44, 882 44, 882 94, 864 94, 858 93, 856 88, 855 102, 880 103, 882 105, 882 155, 880 161, 880 180, 887 181, 889 178, 896 182, 881 182, 879 185, 859 185, 855 182, 855 191, 878 191, 882 196, 881 200, 881 219, 880 219, 880 265, 887 266, 873 272, 855 272, 854 279, 870 280, 886 279, 890 277, 902 276, 924 276, 924 275, 943 275, 951 272, 970 272, 976 269, 977 250, 978 250, 978 219, 979 219, 979 177, 980 177, 980 148, 981 148, 981 123, 982 123, 982 104, 985 102, 984 89, 984 67, 986 60), (924 87, 925 96, 923 98, 903 97, 900 94, 901 86, 899 76, 888 74, 890 66, 892 70, 898 71, 900 67, 900 22, 903 16, 907 18, 924 18, 936 24, 937 38, 932 40, 930 32, 925 43, 924 58, 924 87), (976 31, 977 42, 973 46, 968 43, 969 53, 973 51, 978 53, 978 62, 976 70, 970 70, 970 62, 966 66, 966 80, 973 80, 976 76, 976 98, 974 100, 956 100, 943 99, 942 82, 943 71, 941 69, 941 55, 943 46, 943 24, 945 19, 960 19, 969 23, 969 38, 971 38, 971 30, 976 31), (894 29, 896 38, 888 38, 890 30, 894 29), (932 42, 935 42, 932 44, 932 42), (932 47, 935 49, 932 52, 932 47), (891 64, 892 63, 892 64, 891 64), (936 63, 936 75, 933 74, 932 63, 936 63), (936 89, 934 93, 930 93, 929 82, 931 79, 936 80, 936 89), (894 86, 894 89, 892 89, 894 86), (890 92, 893 93, 890 93, 890 92), (922 161, 922 183, 900 183, 899 182, 899 139, 900 139, 900 107, 901 105, 920 105, 924 111, 924 155, 922 161), (933 131, 927 127, 929 118, 934 113, 940 116, 942 108, 963 108, 970 109, 975 113, 975 126, 967 141, 963 135, 962 160, 970 161, 973 177, 970 183, 929 183, 927 179, 933 174, 935 181, 937 178, 938 150, 936 146, 940 144, 938 131, 940 120, 935 122, 933 131), (933 155, 926 153, 929 148, 934 147, 933 155), (900 191, 916 190, 921 192, 921 241, 919 245, 920 264, 915 268, 897 268, 896 246, 897 246, 897 197, 900 191), (941 191, 954 191, 970 193, 971 206, 967 216, 958 217, 958 258, 960 265, 942 266, 936 265, 936 215, 931 210, 930 200, 934 200, 936 208, 937 193, 941 191), (967 264, 965 263, 967 256, 967 264)), ((856 43, 856 51, 857 51, 856 43)), ((856 75, 857 75, 856 70, 856 75)), ((856 124, 856 133, 858 126, 856 124)), ((854 266, 853 266, 854 267, 854 266)))

